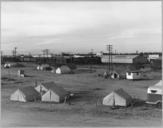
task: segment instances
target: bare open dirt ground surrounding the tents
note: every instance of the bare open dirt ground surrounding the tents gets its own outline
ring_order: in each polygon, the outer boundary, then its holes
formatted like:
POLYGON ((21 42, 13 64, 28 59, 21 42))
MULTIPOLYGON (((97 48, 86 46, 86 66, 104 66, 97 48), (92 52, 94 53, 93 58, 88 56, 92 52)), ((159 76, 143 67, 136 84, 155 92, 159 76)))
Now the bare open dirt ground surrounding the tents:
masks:
POLYGON ((148 73, 151 80, 128 81, 98 77, 104 66, 94 66, 95 72, 78 66, 74 74, 56 75, 37 71, 36 65, 28 64, 21 69, 27 77, 17 77, 19 68, 1 69, 2 126, 160 126, 162 110, 146 106, 147 88, 161 79, 161 71, 148 73), (75 93, 71 105, 9 100, 19 86, 31 86, 37 82, 54 81, 75 93), (134 107, 111 109, 101 105, 101 99, 113 89, 123 88, 141 104, 134 107))

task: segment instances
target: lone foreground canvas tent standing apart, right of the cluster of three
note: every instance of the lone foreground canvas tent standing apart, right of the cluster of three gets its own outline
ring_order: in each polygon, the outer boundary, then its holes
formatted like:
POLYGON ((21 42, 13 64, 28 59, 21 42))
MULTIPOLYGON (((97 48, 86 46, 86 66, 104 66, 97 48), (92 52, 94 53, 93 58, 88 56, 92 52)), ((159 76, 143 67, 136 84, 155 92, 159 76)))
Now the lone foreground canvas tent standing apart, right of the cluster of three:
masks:
POLYGON ((103 105, 106 106, 128 106, 131 103, 131 96, 123 89, 118 89, 111 92, 103 98, 103 105))

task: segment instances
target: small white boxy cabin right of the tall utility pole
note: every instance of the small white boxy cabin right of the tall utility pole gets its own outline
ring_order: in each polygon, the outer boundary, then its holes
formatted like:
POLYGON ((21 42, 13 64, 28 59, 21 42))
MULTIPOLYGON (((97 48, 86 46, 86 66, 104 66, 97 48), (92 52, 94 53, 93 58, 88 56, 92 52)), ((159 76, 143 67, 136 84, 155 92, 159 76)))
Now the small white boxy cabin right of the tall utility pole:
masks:
POLYGON ((141 71, 128 71, 126 72, 126 79, 128 80, 140 80, 143 78, 141 71))

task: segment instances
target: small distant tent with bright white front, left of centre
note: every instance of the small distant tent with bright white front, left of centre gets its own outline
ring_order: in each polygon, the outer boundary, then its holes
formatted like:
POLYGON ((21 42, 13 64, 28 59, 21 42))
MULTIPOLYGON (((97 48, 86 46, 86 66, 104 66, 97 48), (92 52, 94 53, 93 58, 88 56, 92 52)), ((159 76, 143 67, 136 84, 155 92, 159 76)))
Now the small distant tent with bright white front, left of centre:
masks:
POLYGON ((63 65, 56 69, 56 74, 68 74, 68 73, 71 73, 71 69, 66 65, 63 65))

